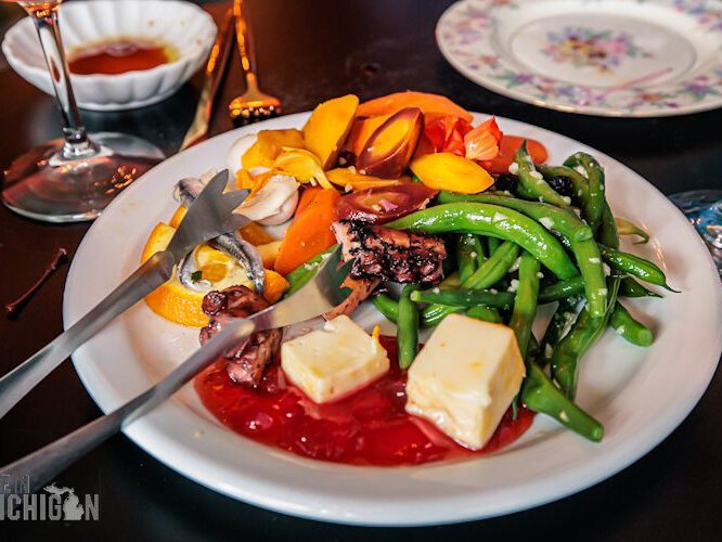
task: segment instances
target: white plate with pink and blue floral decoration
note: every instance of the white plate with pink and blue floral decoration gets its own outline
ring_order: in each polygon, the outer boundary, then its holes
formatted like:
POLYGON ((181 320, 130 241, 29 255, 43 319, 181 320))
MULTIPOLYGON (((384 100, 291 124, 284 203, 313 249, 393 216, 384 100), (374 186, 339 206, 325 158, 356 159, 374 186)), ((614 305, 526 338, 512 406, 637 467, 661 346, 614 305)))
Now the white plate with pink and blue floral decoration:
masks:
POLYGON ((722 105, 720 0, 463 0, 436 38, 468 79, 541 107, 657 117, 722 105))

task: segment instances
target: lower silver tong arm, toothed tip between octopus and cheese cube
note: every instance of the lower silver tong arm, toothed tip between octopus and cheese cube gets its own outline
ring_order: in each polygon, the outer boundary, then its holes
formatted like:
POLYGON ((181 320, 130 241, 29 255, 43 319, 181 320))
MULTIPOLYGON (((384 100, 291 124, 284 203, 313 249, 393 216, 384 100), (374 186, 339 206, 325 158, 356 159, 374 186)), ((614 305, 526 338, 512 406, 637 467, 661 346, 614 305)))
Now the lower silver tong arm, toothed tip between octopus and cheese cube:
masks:
POLYGON ((248 319, 229 322, 219 334, 151 389, 109 414, 0 468, 0 475, 10 475, 10 479, 29 475, 30 492, 38 491, 86 453, 155 409, 224 351, 240 344, 252 333, 304 322, 340 305, 349 293, 348 288, 341 288, 341 283, 348 274, 350 261, 340 268, 339 261, 340 249, 336 249, 321 266, 315 276, 287 299, 248 319))

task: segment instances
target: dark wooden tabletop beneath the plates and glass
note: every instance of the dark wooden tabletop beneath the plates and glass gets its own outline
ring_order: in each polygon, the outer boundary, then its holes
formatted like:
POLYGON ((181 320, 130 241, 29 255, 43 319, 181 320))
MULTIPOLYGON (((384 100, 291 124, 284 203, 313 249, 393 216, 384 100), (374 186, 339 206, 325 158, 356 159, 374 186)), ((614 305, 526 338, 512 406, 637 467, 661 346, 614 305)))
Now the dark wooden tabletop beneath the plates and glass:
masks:
MULTIPOLYGON (((451 96, 472 111, 531 122, 588 143, 630 166, 665 193, 722 188, 722 109, 659 119, 607 119, 515 102, 461 77, 442 59, 434 26, 450 3, 433 0, 250 0, 263 88, 287 113, 346 92, 369 99, 416 89, 451 96)), ((3 7, 4 8, 4 7, 3 7)), ((207 4, 218 20, 224 3, 207 4)), ((1 29, 0 24, 0 31, 1 29)), ((166 102, 133 112, 85 112, 91 130, 143 136, 168 154, 190 124, 197 78, 166 102)), ((212 133, 232 128, 224 106, 241 87, 235 62, 212 133)), ((722 89, 721 89, 722 90, 722 89)), ((0 164, 60 136, 51 99, 0 60, 0 164)), ((645 205, 640 202, 640 205, 645 205)), ((88 224, 48 225, 0 206, 0 301, 21 294, 64 246, 70 256, 88 224)), ((0 374, 62 330, 67 266, 17 320, 0 317, 0 374)), ((688 418, 644 459, 577 495, 511 516, 426 529, 363 529, 295 519, 243 504, 176 474, 124 436, 59 477, 78 494, 100 493, 91 522, 0 522, 0 539, 113 540, 556 540, 719 539, 722 502, 722 380, 718 374, 688 418)), ((99 409, 65 363, 0 422, 0 465, 91 421, 99 409)))

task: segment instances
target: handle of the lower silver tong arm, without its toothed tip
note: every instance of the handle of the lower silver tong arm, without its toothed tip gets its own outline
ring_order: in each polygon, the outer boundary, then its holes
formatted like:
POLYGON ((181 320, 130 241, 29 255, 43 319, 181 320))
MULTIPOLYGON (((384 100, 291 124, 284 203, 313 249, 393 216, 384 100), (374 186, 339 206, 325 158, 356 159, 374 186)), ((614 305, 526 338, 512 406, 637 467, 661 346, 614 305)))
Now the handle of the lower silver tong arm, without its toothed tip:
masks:
POLYGON ((237 345, 255 330, 256 324, 252 320, 238 319, 229 322, 203 348, 196 350, 188 360, 147 391, 37 452, 0 468, 0 474, 10 475, 11 480, 20 479, 21 476, 29 476, 30 492, 40 490, 68 465, 75 463, 138 417, 155 409, 204 367, 224 351, 237 345))

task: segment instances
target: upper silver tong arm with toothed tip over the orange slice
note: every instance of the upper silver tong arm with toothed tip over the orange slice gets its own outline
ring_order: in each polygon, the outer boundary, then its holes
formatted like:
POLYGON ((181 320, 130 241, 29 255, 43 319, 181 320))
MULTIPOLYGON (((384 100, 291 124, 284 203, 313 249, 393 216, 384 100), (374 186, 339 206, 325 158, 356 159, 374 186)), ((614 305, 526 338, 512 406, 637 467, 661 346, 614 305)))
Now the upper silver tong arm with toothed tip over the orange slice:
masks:
POLYGON ((0 378, 0 417, 76 348, 170 279, 173 266, 195 246, 248 223, 248 219, 232 212, 245 199, 248 191, 223 193, 227 182, 228 170, 216 175, 188 209, 168 248, 151 256, 65 333, 0 378))

